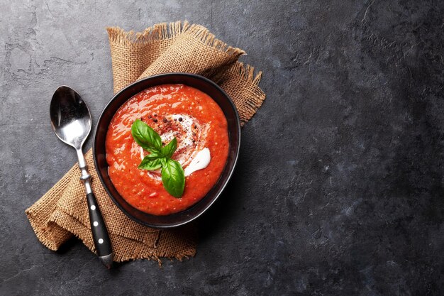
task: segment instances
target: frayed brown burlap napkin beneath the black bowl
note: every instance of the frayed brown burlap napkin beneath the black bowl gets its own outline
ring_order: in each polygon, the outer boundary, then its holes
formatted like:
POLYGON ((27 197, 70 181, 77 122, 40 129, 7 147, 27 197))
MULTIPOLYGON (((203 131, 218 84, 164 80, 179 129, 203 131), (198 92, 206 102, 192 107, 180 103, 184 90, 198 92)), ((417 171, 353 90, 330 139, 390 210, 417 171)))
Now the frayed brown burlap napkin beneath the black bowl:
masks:
MULTIPOLYGON (((238 62, 244 51, 218 40, 206 28, 187 22, 160 23, 142 33, 108 28, 114 92, 150 75, 190 72, 209 77, 231 96, 245 124, 260 107, 265 94, 257 86, 261 73, 238 62)), ((196 253, 196 226, 173 230, 150 229, 123 214, 106 194, 96 175, 91 150, 86 155, 92 187, 108 227, 114 261, 160 257, 177 258, 196 253)), ((89 226, 87 199, 74 165, 26 214, 38 239, 57 250, 77 236, 95 251, 89 226)))

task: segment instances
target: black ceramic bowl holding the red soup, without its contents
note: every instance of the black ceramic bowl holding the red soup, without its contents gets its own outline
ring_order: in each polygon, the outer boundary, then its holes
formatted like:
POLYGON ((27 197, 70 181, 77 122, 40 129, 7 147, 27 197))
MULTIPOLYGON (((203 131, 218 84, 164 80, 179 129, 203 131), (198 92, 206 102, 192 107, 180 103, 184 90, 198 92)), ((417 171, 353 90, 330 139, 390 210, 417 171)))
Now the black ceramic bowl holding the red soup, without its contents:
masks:
POLYGON ((106 105, 104 111, 102 111, 99 122, 96 126, 96 131, 94 133, 94 144, 93 144, 93 155, 94 164, 96 165, 96 170, 101 180, 102 185, 104 185, 106 192, 108 192, 113 202, 117 205, 123 213, 128 217, 137 221, 140 224, 155 228, 171 228, 175 226, 180 226, 187 224, 189 221, 193 221, 198 216, 203 214, 206 209, 211 207, 218 196, 226 187, 228 180, 230 179, 235 164, 238 160, 238 153, 240 147, 240 120, 238 111, 235 108, 233 101, 230 97, 223 92, 223 90, 218 87, 217 84, 211 80, 201 77, 199 75, 192 75, 187 73, 169 73, 163 75, 156 75, 152 77, 139 80, 134 82, 128 87, 125 87, 120 92, 118 92, 113 99, 106 105), (106 163, 106 150, 105 150, 105 140, 106 131, 108 130, 109 123, 113 118, 116 111, 124 104, 128 99, 131 99, 135 94, 147 89, 148 87, 154 87, 160 84, 170 84, 170 83, 180 83, 186 84, 190 87, 201 90, 208 94, 222 109, 223 114, 225 114, 228 122, 228 138, 230 142, 230 150, 228 153, 228 160, 223 169, 221 177, 219 177, 218 182, 210 190, 206 196, 199 202, 194 204, 189 209, 176 214, 170 214, 167 216, 155 216, 141 212, 128 204, 128 202, 121 197, 111 182, 108 175, 108 163, 106 163))

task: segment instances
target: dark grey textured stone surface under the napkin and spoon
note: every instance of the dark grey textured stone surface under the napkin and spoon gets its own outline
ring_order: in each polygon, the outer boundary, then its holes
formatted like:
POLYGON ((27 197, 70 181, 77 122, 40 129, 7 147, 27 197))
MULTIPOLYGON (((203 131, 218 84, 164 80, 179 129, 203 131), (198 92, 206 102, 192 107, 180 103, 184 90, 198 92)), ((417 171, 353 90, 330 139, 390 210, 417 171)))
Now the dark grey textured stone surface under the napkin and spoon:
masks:
POLYGON ((161 2, 0 1, 0 295, 442 295, 443 1, 161 2), (24 210, 74 163, 52 92, 97 119, 104 28, 178 19, 246 50, 267 93, 196 257, 49 251, 24 210))

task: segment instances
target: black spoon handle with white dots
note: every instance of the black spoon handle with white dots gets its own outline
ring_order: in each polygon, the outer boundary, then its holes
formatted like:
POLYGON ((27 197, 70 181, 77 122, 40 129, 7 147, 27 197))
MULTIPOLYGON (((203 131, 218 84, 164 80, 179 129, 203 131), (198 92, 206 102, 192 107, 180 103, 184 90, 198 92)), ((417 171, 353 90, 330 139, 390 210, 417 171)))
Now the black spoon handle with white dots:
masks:
POLYGON ((99 204, 97 204, 93 192, 87 194, 87 202, 89 221, 91 222, 91 232, 94 239, 94 246, 96 246, 97 255, 99 255, 99 259, 107 268, 111 268, 113 262, 111 240, 109 239, 104 218, 101 216, 99 204))

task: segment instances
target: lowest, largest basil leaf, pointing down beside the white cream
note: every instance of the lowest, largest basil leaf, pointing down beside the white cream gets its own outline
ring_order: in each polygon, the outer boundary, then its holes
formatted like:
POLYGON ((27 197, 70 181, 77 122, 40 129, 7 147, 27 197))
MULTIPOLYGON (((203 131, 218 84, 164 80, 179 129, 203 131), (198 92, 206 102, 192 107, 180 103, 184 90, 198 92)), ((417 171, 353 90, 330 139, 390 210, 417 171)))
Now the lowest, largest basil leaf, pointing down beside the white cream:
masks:
POLYGON ((185 174, 182 165, 176 160, 167 158, 165 165, 162 165, 163 187, 173 197, 182 197, 185 187, 185 174))

